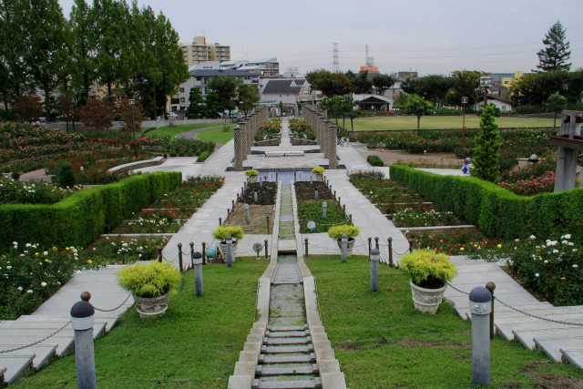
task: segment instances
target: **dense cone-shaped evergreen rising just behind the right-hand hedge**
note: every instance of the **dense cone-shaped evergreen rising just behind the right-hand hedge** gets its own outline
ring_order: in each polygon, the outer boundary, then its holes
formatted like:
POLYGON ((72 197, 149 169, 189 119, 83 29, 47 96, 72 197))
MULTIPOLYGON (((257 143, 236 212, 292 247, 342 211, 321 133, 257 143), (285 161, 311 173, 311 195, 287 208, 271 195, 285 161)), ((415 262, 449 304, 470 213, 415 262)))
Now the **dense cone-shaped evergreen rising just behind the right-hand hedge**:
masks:
POLYGON ((480 117, 480 131, 476 135, 476 148, 474 148, 473 174, 479 179, 495 182, 500 172, 498 162, 500 149, 500 136, 498 126, 494 118, 494 108, 487 106, 480 117))

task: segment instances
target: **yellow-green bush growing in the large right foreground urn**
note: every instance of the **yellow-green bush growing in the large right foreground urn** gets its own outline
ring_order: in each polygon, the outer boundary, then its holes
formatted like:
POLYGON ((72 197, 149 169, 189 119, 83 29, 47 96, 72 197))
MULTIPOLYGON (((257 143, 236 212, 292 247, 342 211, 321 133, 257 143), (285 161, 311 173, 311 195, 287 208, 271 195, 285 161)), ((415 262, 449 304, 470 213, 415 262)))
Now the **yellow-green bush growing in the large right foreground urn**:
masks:
POLYGON ((438 289, 455 277, 454 262, 433 250, 415 250, 399 262, 401 269, 411 276, 413 283, 426 289, 438 289))

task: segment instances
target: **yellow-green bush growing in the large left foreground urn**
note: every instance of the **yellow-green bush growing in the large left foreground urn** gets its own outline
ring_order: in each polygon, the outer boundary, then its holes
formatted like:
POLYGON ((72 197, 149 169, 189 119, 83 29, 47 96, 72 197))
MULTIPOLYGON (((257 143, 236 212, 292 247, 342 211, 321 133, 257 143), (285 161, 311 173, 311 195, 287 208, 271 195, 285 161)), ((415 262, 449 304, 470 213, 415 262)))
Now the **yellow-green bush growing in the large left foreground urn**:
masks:
POLYGON ((140 297, 159 297, 176 288, 180 272, 171 263, 136 263, 118 271, 119 286, 140 297))

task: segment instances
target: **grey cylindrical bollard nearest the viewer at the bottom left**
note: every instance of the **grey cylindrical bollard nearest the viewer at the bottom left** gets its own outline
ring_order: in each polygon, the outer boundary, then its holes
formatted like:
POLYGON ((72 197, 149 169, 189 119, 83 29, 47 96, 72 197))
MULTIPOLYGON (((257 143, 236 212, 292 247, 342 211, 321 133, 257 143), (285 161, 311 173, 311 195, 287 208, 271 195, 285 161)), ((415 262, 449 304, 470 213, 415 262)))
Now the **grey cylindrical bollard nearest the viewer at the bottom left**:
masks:
POLYGON ((75 333, 75 364, 77 367, 77 388, 95 389, 95 349, 93 346, 93 322, 95 310, 89 302, 91 294, 81 293, 80 302, 71 307, 71 327, 75 333))

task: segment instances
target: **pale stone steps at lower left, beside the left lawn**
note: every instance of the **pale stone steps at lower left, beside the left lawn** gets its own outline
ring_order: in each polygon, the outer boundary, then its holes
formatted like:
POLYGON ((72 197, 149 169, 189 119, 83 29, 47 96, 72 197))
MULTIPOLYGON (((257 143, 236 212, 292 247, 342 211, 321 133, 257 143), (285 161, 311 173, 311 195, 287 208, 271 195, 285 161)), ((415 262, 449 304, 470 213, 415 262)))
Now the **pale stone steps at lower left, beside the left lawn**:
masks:
MULTIPOLYGON (((0 372, 3 372, 0 378, 4 379, 0 380, 0 385, 12 384, 33 374, 56 358, 73 352, 74 330, 68 323, 71 306, 80 300, 81 292, 88 290, 93 294, 90 302, 95 306, 104 309, 117 307, 128 297, 128 292, 118 286, 116 277, 112 277, 112 273, 118 271, 120 267, 108 266, 99 271, 76 273, 59 292, 33 314, 22 315, 14 321, 0 321, 0 351, 41 341, 22 350, 0 353, 0 372), (49 336, 53 333, 55 334, 49 336)), ((133 299, 130 298, 113 312, 96 311, 94 339, 110 331, 118 322, 121 313, 126 312, 132 305, 133 299)))

